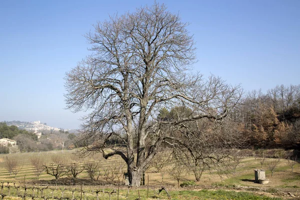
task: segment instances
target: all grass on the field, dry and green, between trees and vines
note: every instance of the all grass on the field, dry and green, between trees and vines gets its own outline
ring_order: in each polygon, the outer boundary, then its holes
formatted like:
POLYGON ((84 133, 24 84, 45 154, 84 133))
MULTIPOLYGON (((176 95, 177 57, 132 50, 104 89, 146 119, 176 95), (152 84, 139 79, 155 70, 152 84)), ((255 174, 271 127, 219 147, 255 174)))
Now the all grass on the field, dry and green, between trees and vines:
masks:
MULTIPOLYGON (((4 160, 6 155, 0 155, 0 182, 19 182, 19 184, 22 184, 24 182, 24 176, 25 176, 25 182, 36 182, 36 176, 33 173, 33 166, 30 163, 30 157, 34 156, 43 156, 47 163, 51 162, 51 157, 53 155, 59 155, 63 159, 65 159, 68 162, 71 162, 73 158, 74 150, 64 150, 61 151, 49 151, 49 152, 30 152, 30 153, 16 153, 16 154, 9 154, 8 157, 14 157, 17 159, 20 163, 21 169, 19 173, 14 178, 14 174, 9 175, 7 170, 4 167, 4 160)), ((83 165, 84 162, 90 162, 93 160, 100 160, 100 162, 103 165, 111 164, 115 161, 119 161, 120 158, 118 156, 111 157, 107 160, 102 158, 100 154, 89 156, 86 158, 82 158, 81 165, 83 165)), ((286 193, 286 191, 291 191, 297 193, 300 188, 300 170, 298 167, 299 164, 296 164, 294 166, 294 172, 291 172, 291 168, 287 165, 286 160, 281 159, 278 167, 275 169, 274 176, 271 177, 270 171, 266 169, 265 174, 266 178, 270 180, 270 182, 266 185, 260 185, 257 183, 254 183, 254 169, 261 168, 260 163, 258 159, 254 159, 253 157, 247 157, 243 159, 238 167, 236 168, 235 172, 232 174, 229 174, 227 176, 223 176, 220 178, 220 176, 217 175, 214 171, 204 171, 201 180, 199 182, 195 182, 196 185, 192 185, 191 187, 187 188, 194 188, 197 191, 181 188, 180 190, 176 187, 177 182, 176 180, 172 179, 167 173, 164 175, 164 182, 161 181, 161 175, 160 173, 156 173, 154 168, 149 168, 146 171, 146 177, 149 175, 149 185, 151 185, 151 188, 159 188, 160 186, 164 185, 166 186, 171 193, 172 199, 280 199, 280 198, 270 198, 265 195, 257 195, 255 193, 250 192, 236 192, 236 191, 226 191, 224 189, 230 189, 230 190, 236 190, 240 186, 243 187, 260 187, 263 190, 257 190, 257 191, 266 191, 264 194, 267 193, 286 193), (208 190, 200 188, 207 188, 208 190), (217 190, 215 190, 217 188, 217 190), (212 190, 211 190, 212 189, 212 190)), ((124 166, 124 171, 125 171, 124 166)), ((265 168, 264 168, 265 169, 265 168)), ((53 180, 53 176, 45 174, 43 172, 39 179, 40 182, 47 182, 50 180, 53 180)), ((79 174, 79 180, 86 184, 90 184, 89 178, 87 176, 87 173, 84 171, 79 174)), ((147 178, 146 178, 147 179, 147 178)), ((190 180, 194 180, 194 177, 192 174, 185 174, 180 183, 188 182, 190 180)), ((61 178, 61 182, 69 183, 69 178, 64 175, 61 178)), ((113 183, 112 181, 105 181, 102 177, 100 179, 101 183, 107 184, 107 183, 113 183)), ((116 181, 114 181, 115 183, 116 181)), ((52 183, 54 183, 52 181, 52 183)), ((4 184, 4 185, 5 185, 4 184)), ((11 183, 10 183, 11 184, 11 183)), ((29 183, 30 184, 30 183, 29 183)), ((31 184, 32 185, 32 184, 31 184)), ((78 186, 78 185, 77 185, 78 186)), ((58 189, 61 186, 58 186, 58 189)), ((87 186, 86 186, 87 187, 87 186)), ((100 186, 101 187, 101 186, 100 186)), ((112 190, 113 187, 116 186, 112 185, 111 188, 107 188, 108 190, 112 190)), ((10 188, 11 192, 13 193, 14 188, 10 188)), ((79 189, 79 188, 77 188, 79 189)), ((95 192, 92 192, 92 190, 95 190, 96 188, 90 187, 87 188, 87 190, 90 190, 89 192, 86 192, 85 195, 88 195, 88 199, 94 199, 95 198, 95 192)), ((102 188, 98 188, 102 189, 102 188)), ((47 193, 51 192, 50 189, 45 190, 47 193)), ((158 189, 150 189, 148 199, 153 199, 155 196, 157 197, 157 191, 158 189), (155 194, 156 193, 156 194, 155 194)), ((7 188, 3 188, 3 193, 7 192, 7 188)), ((28 191, 29 192, 29 191, 28 191)), ((35 191, 36 192, 36 191, 35 191)), ((61 196, 60 190, 55 190, 56 193, 54 193, 54 196, 61 196)), ((140 195, 142 198, 146 198, 146 190, 145 189, 139 189, 140 195)), ((78 191, 75 192, 75 198, 78 199, 78 191)), ((127 189, 122 188, 120 190, 119 199, 125 199, 127 194, 127 189)), ((65 191, 66 196, 71 196, 71 191, 65 191)), ((298 192, 299 195, 299 192, 298 192)), ((130 189, 129 192, 129 199, 135 199, 138 197, 137 190, 136 189, 130 189)), ((16 197, 15 197, 16 198, 16 197)), ((167 199, 167 196, 165 193, 159 194, 159 199, 167 199)), ((10 196, 5 196, 5 199, 13 199, 10 196)), ((20 199, 20 198, 19 198, 20 199)), ((29 198, 28 198, 29 199, 29 198)), ((108 199, 107 193, 99 193, 99 199, 108 199), (100 196, 101 194, 101 196, 100 196)), ((111 199, 116 199, 116 194, 112 194, 111 199)))

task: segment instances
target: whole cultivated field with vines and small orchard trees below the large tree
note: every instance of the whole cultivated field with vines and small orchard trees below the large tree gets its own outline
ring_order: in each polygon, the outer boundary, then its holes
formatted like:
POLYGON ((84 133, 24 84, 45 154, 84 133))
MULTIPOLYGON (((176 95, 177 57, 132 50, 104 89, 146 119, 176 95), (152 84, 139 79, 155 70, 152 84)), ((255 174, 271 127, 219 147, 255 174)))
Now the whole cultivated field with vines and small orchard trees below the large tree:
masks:
POLYGON ((267 185, 253 182, 253 169, 261 165, 267 168, 268 159, 271 159, 265 158, 261 164, 261 158, 243 157, 230 174, 219 176, 215 170, 204 170, 198 182, 193 181, 191 171, 184 169, 178 181, 181 187, 178 187, 176 177, 169 170, 173 170, 171 162, 165 154, 162 156, 167 161, 163 163, 165 165, 162 168, 157 166, 162 164, 161 160, 152 163, 145 172, 145 185, 137 189, 125 185, 123 174, 126 166, 120 158, 104 159, 101 154, 80 158, 74 152, 66 150, 1 155, 2 199, 187 199, 191 196, 194 199, 277 199, 273 197, 283 197, 287 192, 299 195, 298 163, 293 165, 291 172, 287 160, 283 158, 273 171, 273 176, 270 170, 266 170, 270 180, 267 185), (13 169, 7 166, 9 161, 16 163, 13 169), (57 167, 59 165, 61 168, 57 167), (49 174, 46 173, 46 167, 49 174), (56 170, 61 170, 59 175, 55 173, 56 170), (240 191, 253 189, 258 193, 240 191), (259 192, 263 195, 258 195, 259 192))

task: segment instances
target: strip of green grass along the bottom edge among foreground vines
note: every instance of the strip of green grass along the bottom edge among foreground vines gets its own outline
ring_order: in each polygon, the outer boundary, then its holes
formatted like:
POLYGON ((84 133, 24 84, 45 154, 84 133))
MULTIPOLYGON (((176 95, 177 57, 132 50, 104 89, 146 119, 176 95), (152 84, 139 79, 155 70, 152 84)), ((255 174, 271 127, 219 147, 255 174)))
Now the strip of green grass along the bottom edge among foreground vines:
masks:
MULTIPOLYGON (((53 196, 54 197, 61 197, 61 190, 59 190, 60 187, 58 187, 58 189, 55 189, 53 192, 53 196)), ((79 189, 79 188, 78 188, 79 189)), ((86 199, 90 199, 90 200, 95 200, 96 199, 96 194, 95 194, 95 190, 96 188, 83 188, 84 189, 84 194, 82 193, 82 198, 84 199, 84 197, 86 199), (93 190, 93 192, 92 192, 93 190)), ((102 193, 102 189, 101 188, 97 188, 100 190, 100 192, 98 193, 99 199, 108 199, 109 196, 107 193, 102 193)), ((110 192, 112 191, 112 188, 106 188, 104 191, 106 192, 110 192)), ((7 188, 3 188, 3 193, 7 193, 7 188)), ((147 190, 146 189, 139 189, 137 191, 137 189, 130 189, 129 190, 129 195, 127 197, 127 189, 120 189, 119 190, 119 199, 136 199, 138 198, 138 192, 139 195, 141 197, 141 199, 167 199, 167 195, 164 191, 162 191, 160 194, 158 193, 158 189, 156 190, 149 190, 148 193, 148 197, 147 197, 147 190), (126 198, 127 197, 127 198, 126 198)), ((5 199, 21 199, 20 197, 14 197, 16 196, 16 191, 13 187, 10 188, 10 194, 9 196, 5 196, 5 199)), ((23 194, 23 190, 19 189, 19 194, 23 194)), ((174 200, 179 200, 179 199, 264 199, 264 200, 268 200, 268 199, 281 199, 281 198, 272 198, 272 197, 267 197, 267 196, 261 196, 261 195, 255 195, 253 193, 250 192, 236 192, 236 191, 225 191, 225 190, 207 190, 207 189, 202 189, 202 190, 198 190, 198 191, 193 191, 193 190, 179 190, 179 191, 173 191, 170 190, 169 194, 171 196, 171 199, 174 200)), ((31 199, 30 196, 32 196, 32 189, 28 188, 26 191, 26 195, 27 198, 26 199, 31 199)), ((44 189, 44 195, 51 197, 52 196, 52 190, 51 189, 44 189)), ((42 199, 40 197, 40 192, 39 195, 37 196, 37 190, 34 190, 34 199, 42 199)), ((68 197, 71 199, 72 197, 72 192, 70 190, 65 190, 64 191, 64 197, 68 197)), ((76 199, 80 199, 80 192, 77 190, 74 192, 74 198, 76 199)), ((111 199, 117 199, 117 190, 115 193, 111 194, 111 199)))

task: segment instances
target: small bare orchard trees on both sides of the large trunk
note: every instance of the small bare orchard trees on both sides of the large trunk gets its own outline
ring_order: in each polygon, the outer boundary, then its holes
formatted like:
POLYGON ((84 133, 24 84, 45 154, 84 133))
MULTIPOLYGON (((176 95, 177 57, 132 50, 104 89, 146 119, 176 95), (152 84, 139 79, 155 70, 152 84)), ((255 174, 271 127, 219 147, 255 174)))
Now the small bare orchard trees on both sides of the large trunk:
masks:
MULTIPOLYGON (((191 156, 186 156, 182 151, 166 148, 157 153, 146 169, 159 173, 161 182, 164 182, 165 174, 168 174, 168 177, 176 180, 179 186, 179 181, 185 179, 184 177, 187 174, 192 174, 194 180, 199 181, 202 174, 207 173, 207 171, 217 172, 220 177, 235 173, 241 160, 249 156, 254 156, 255 160, 260 163, 261 168, 269 169, 272 176, 281 158, 286 159, 286 164, 291 167, 291 171, 297 163, 297 155, 292 150, 231 149, 228 156, 220 158, 218 162, 213 159, 206 159, 195 163, 191 156)), ((79 176, 82 178, 81 173, 84 171, 85 177, 89 177, 91 182, 98 183, 103 180, 106 182, 123 182, 123 175, 126 174, 125 163, 121 159, 104 161, 101 157, 95 155, 89 156, 88 159, 82 159, 75 154, 68 156, 68 158, 55 154, 47 161, 44 156, 37 155, 29 160, 33 166, 30 173, 33 173, 37 180, 39 180, 42 173, 46 173, 52 175, 56 181, 64 175, 74 181, 79 176)), ((14 176, 22 169, 18 159, 13 156, 6 156, 4 166, 9 174, 14 174, 14 176)))

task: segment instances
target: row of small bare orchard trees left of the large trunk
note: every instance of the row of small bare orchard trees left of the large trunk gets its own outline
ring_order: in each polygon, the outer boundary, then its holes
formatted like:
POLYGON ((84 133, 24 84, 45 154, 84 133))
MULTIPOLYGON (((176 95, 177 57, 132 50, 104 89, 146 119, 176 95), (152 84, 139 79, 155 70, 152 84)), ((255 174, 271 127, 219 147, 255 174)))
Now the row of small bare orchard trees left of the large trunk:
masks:
MULTIPOLYGON (((83 160, 76 155, 71 155, 70 159, 58 154, 52 155, 50 160, 45 160, 43 156, 39 155, 31 157, 29 160, 33 166, 32 172, 37 180, 43 172, 54 176, 56 180, 63 175, 75 180, 82 171, 85 171, 91 182, 98 181, 100 176, 106 181, 114 181, 116 178, 122 177, 124 173, 124 163, 121 160, 111 160, 103 163, 96 157, 83 160)), ((17 157, 13 156, 5 157, 4 166, 9 175, 14 174, 14 176, 22 169, 17 157)))

